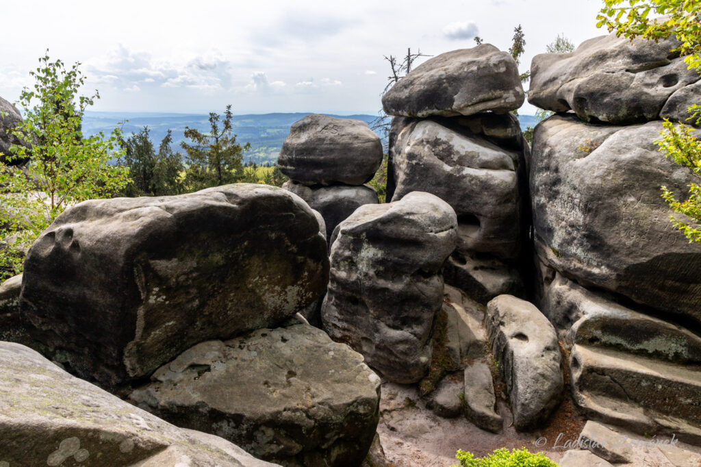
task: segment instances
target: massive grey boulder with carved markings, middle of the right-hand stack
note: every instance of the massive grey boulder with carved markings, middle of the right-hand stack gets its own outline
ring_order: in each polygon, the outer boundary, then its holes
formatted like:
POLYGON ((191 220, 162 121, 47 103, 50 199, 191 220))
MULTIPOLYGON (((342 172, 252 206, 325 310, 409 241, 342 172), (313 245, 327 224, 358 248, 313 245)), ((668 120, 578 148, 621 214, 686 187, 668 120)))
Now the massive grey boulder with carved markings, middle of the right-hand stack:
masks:
POLYGON ((661 122, 592 126, 552 116, 533 139, 531 197, 540 259, 587 287, 701 322, 701 245, 669 222, 660 185, 693 176, 661 156, 661 122))

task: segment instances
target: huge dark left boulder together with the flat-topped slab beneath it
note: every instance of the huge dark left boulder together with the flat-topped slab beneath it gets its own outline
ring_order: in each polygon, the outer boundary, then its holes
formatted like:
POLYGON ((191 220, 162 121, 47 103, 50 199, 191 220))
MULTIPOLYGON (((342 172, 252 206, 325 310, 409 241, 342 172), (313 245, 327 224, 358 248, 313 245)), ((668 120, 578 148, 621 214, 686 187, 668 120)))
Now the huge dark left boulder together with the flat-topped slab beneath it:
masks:
POLYGON ((20 311, 37 350, 167 421, 269 461, 341 466, 369 449, 379 379, 291 319, 328 277, 301 198, 228 185, 67 209, 29 250, 20 311))

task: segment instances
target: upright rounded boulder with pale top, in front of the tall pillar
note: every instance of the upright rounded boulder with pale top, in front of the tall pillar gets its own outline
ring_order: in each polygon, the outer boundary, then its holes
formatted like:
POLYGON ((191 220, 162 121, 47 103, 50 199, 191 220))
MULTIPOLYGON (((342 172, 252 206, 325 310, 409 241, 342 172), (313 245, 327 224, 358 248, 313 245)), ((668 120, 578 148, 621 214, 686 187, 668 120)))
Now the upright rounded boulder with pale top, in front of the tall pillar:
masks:
POLYGON ((436 196, 411 193, 361 206, 334 237, 324 329, 390 381, 418 381, 432 355, 440 270, 456 245, 454 211, 436 196))

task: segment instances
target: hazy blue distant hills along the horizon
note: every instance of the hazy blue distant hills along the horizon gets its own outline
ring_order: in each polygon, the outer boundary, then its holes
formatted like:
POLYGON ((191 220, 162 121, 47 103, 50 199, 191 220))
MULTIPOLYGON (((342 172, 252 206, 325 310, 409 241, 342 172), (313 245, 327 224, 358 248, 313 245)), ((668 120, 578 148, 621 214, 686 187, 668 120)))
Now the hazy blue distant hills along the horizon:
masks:
MULTIPOLYGON (((308 113, 293 114, 247 114, 233 116, 233 128, 236 140, 241 144, 250 142, 251 149, 244 155, 244 161, 258 164, 275 163, 278 154, 283 147, 285 137, 290 133, 292 123, 309 115, 308 113)), ((367 114, 357 115, 332 115, 341 119, 357 119, 365 123, 372 122, 376 116, 367 114)), ((144 126, 151 130, 151 141, 158 148, 163 137, 172 130, 173 147, 179 149, 180 142, 184 140, 186 126, 197 128, 200 131, 209 129, 209 115, 205 114, 168 114, 168 113, 128 113, 128 112, 95 112, 86 111, 83 117, 83 132, 94 135, 100 131, 111 132, 118 123, 123 124, 125 134, 137 133, 144 126)), ((535 126, 536 117, 531 115, 519 116, 521 127, 535 126)), ((380 135, 381 137, 382 135, 380 135)), ((386 143, 386 141, 383 141, 386 143)))

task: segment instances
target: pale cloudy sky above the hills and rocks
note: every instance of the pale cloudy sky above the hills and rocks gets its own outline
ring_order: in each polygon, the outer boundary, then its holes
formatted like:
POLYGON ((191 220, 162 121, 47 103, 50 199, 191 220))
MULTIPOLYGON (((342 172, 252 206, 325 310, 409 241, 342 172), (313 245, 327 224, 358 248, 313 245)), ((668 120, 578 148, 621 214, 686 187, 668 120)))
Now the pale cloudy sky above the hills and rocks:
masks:
MULTIPOLYGON (((601 0, 0 0, 0 97, 16 102, 48 48, 81 62, 94 111, 376 114, 385 55, 508 50, 522 25, 522 72, 564 34, 606 34, 601 0)), ((426 60, 426 59, 423 59, 426 60)), ((418 62, 416 62, 418 64, 418 62)), ((535 108, 524 104, 522 114, 535 108)))

